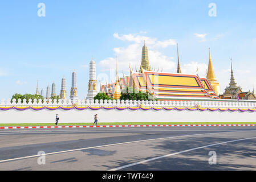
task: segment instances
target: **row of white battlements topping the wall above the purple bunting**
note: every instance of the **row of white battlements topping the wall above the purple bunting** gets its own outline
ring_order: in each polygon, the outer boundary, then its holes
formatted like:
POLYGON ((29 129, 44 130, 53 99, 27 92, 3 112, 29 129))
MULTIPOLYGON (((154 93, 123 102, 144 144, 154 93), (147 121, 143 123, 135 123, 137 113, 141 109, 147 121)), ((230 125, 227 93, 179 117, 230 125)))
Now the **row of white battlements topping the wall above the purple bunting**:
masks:
POLYGON ((23 102, 21 99, 16 101, 11 100, 1 100, 0 107, 87 107, 87 106, 102 106, 102 107, 120 107, 120 106, 129 106, 129 107, 196 107, 196 108, 230 108, 230 109, 256 109, 256 102, 234 102, 234 101, 132 101, 132 100, 77 100, 71 101, 70 99, 62 100, 38 100, 31 99, 28 101, 24 99, 23 102))

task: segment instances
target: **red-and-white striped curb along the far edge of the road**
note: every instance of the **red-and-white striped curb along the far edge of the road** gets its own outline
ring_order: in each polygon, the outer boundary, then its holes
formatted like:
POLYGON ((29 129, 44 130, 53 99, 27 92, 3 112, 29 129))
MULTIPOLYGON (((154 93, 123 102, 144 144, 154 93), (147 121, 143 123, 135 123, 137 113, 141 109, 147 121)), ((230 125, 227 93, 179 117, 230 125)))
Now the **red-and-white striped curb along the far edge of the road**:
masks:
POLYGON ((60 128, 95 128, 95 127, 196 127, 196 126, 256 126, 256 124, 200 124, 200 125, 71 125, 71 126, 2 126, 0 129, 60 129, 60 128))

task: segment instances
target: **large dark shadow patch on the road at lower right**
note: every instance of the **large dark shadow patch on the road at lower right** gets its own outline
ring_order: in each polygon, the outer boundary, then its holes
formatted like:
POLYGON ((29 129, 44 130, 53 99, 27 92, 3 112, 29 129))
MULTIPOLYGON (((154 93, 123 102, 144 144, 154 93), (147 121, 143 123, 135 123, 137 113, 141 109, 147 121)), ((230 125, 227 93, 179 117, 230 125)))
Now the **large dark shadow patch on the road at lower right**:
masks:
MULTIPOLYGON (((148 144, 149 147, 164 151, 164 155, 173 154, 191 148, 206 146, 209 144, 226 142, 234 140, 232 137, 198 137, 182 138, 175 140, 165 140, 159 144, 148 144)), ((163 154, 150 156, 147 158, 127 157, 124 160, 115 162, 115 167, 125 166, 127 164, 140 162, 142 160, 156 158, 163 154)), ((109 169, 115 167, 108 167, 109 169)), ((184 152, 147 163, 137 164, 135 166, 123 168, 121 170, 156 170, 156 171, 182 171, 182 170, 255 170, 256 169, 256 147, 255 139, 242 140, 238 142, 220 144, 217 146, 200 148, 197 150, 184 152), (209 151, 216 151, 217 164, 209 164, 209 151)))

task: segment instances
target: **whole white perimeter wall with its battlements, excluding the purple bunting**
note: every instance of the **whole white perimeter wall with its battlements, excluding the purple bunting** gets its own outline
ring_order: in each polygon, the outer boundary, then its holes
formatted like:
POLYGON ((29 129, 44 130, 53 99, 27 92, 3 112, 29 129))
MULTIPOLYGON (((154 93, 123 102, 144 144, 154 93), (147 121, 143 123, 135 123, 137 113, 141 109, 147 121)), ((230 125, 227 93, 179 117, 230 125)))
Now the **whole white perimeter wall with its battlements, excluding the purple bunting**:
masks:
MULTIPOLYGON (((0 107, 40 107, 40 106, 71 106, 70 100, 60 100, 59 104, 54 101, 54 104, 32 104, 31 100, 29 104, 18 101, 18 104, 10 100, 0 102, 0 107), (62 104, 60 104, 62 103, 62 104)), ((35 102, 36 103, 36 102, 35 102)), ((46 102, 44 102, 46 103, 46 102)), ((255 109, 255 102, 207 102, 207 101, 169 101, 169 102, 159 102, 159 101, 89 101, 83 100, 78 101, 78 107, 91 106, 133 106, 136 107, 140 105, 143 107, 194 107, 195 105, 200 105, 201 107, 209 108, 241 108, 241 109, 255 109)), ((0 123, 55 123, 55 115, 59 115, 59 123, 92 123, 94 122, 94 114, 98 115, 99 123, 103 122, 256 122, 256 111, 200 111, 200 110, 117 110, 117 109, 99 109, 99 110, 0 110, 0 123)))

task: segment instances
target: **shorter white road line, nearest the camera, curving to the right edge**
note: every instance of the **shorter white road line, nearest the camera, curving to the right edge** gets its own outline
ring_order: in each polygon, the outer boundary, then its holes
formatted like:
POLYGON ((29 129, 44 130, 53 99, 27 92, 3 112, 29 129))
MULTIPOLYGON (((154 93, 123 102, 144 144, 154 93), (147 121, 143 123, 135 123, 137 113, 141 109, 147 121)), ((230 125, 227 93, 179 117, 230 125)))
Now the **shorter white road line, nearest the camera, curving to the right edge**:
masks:
POLYGON ((132 163, 132 164, 128 164, 128 165, 125 165, 125 166, 121 166, 121 167, 109 169, 108 171, 117 171, 117 170, 119 170, 119 169, 124 169, 124 168, 127 168, 127 167, 135 166, 135 165, 137 165, 137 164, 143 164, 143 163, 147 163, 147 162, 152 161, 152 160, 157 160, 157 159, 161 159, 161 158, 167 158, 167 157, 169 157, 169 156, 173 156, 173 155, 177 155, 177 154, 182 154, 182 153, 184 153, 184 152, 189 152, 189 151, 197 150, 197 149, 200 149, 200 148, 212 147, 212 146, 217 146, 217 145, 219 145, 219 144, 225 144, 225 143, 231 143, 231 142, 237 142, 237 141, 249 140, 249 139, 256 139, 256 137, 253 137, 253 138, 242 138, 242 139, 237 139, 237 140, 229 140, 229 141, 227 141, 227 142, 221 142, 221 143, 209 144, 209 145, 207 145, 207 146, 191 148, 191 149, 189 149, 189 150, 184 150, 184 151, 180 151, 180 152, 175 152, 175 153, 168 154, 168 155, 162 155, 162 156, 158 156, 158 157, 156 157, 156 158, 147 159, 147 160, 142 160, 141 162, 132 163))

